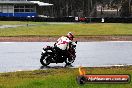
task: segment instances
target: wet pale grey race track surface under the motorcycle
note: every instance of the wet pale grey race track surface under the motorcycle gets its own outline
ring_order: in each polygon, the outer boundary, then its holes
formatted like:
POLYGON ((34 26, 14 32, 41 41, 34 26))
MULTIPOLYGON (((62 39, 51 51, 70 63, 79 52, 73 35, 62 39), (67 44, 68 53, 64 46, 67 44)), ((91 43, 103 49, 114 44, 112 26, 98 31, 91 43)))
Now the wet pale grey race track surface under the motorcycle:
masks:
MULTIPOLYGON (((0 42, 0 72, 37 70, 40 64, 43 46, 53 42, 0 42)), ((131 41, 78 42, 77 58, 73 67, 111 66, 132 64, 131 41)), ((62 64, 50 64, 50 67, 64 67, 62 64)), ((47 68, 45 68, 47 69, 47 68)))

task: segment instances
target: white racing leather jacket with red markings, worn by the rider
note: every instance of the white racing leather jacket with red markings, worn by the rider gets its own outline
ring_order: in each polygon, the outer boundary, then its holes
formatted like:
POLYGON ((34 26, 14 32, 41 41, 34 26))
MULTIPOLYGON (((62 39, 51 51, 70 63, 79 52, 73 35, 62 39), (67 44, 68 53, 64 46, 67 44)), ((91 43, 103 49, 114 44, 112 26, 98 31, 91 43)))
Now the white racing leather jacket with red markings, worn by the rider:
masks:
POLYGON ((69 43, 72 42, 69 38, 62 36, 57 40, 56 46, 61 50, 69 49, 69 43))

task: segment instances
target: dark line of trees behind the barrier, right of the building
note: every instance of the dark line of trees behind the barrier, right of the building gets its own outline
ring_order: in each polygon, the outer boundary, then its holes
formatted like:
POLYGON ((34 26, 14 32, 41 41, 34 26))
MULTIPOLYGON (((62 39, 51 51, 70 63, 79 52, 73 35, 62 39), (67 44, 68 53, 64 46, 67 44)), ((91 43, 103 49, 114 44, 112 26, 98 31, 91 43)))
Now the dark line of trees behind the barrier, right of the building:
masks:
MULTIPOLYGON (((131 16, 131 0, 40 0, 53 6, 38 8, 38 13, 50 17, 96 17, 96 6, 108 4, 117 8, 121 17, 131 16), (119 10, 118 10, 119 9, 119 10)), ((103 11, 103 10, 102 10, 103 11)), ((118 12, 117 12, 118 13, 118 12)))

